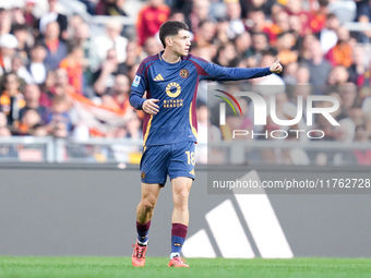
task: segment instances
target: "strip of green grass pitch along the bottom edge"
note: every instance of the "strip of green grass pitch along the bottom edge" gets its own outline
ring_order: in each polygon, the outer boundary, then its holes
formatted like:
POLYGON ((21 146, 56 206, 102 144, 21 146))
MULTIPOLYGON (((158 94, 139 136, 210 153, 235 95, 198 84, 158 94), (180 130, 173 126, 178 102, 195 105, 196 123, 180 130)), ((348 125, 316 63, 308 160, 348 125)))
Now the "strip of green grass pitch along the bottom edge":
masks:
POLYGON ((189 258, 187 263, 190 268, 168 268, 168 258, 147 257, 145 267, 134 268, 130 257, 0 257, 0 277, 371 277, 371 259, 368 258, 189 258))

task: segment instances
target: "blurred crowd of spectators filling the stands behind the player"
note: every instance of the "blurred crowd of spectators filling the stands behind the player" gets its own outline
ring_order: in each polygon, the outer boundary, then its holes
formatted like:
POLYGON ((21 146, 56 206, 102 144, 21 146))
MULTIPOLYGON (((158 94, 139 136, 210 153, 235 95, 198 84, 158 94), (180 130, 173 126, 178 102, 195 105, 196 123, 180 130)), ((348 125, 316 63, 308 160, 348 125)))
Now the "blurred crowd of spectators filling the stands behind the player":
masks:
MULTIPOLYGON (((0 9, 0 136, 141 140, 143 112, 129 104, 130 85, 141 60, 163 49, 160 24, 178 20, 190 26, 191 52, 214 63, 268 67, 280 58, 279 76, 229 83, 236 90, 268 86, 260 93, 276 95, 283 119, 291 117, 298 95, 334 96, 340 126, 316 118, 313 129, 325 131, 324 140, 371 138, 371 31, 345 25, 370 21, 368 0, 148 0, 136 1, 140 9, 130 13, 135 1, 81 0, 92 16, 107 15, 100 29, 79 14, 64 15, 58 0, 44 1, 48 9, 37 15, 36 2, 0 9), (346 2, 355 16, 334 9, 346 2), (132 14, 135 24, 123 25, 120 19, 132 14)), ((201 143, 207 141, 204 126, 213 142, 229 140, 232 129, 254 129, 251 105, 241 99, 244 118, 228 117, 226 130, 218 130, 207 113, 208 84, 199 88, 201 143)))

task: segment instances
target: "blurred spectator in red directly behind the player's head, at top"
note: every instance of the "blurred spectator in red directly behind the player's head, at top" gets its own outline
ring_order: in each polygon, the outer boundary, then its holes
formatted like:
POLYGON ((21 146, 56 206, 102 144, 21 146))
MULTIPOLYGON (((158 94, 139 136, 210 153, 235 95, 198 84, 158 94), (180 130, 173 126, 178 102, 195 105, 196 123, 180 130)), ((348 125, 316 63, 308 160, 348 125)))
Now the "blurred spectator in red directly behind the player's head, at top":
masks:
POLYGON ((136 36, 140 46, 143 46, 147 37, 156 35, 159 26, 168 20, 170 9, 164 0, 148 0, 148 4, 142 8, 137 15, 136 36))

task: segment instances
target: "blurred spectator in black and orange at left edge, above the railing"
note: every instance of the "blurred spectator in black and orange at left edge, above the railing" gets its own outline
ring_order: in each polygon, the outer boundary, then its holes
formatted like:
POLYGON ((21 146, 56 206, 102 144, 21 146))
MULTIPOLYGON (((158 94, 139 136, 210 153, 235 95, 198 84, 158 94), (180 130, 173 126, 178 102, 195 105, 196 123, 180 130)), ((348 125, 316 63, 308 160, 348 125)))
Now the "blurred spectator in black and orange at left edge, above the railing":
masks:
POLYGON ((26 105, 19 87, 19 76, 15 73, 7 74, 5 90, 3 90, 0 96, 0 111, 7 114, 9 125, 13 125, 13 123, 20 119, 20 110, 26 105))

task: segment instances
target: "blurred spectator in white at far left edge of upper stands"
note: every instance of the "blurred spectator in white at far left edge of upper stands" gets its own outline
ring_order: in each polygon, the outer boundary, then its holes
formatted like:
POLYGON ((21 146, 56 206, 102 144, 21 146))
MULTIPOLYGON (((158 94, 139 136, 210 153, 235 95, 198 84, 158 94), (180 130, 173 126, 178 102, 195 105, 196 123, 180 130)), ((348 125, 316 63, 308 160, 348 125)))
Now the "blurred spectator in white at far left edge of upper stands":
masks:
POLYGON ((17 39, 11 34, 0 36, 0 75, 11 71, 17 44, 17 39))

